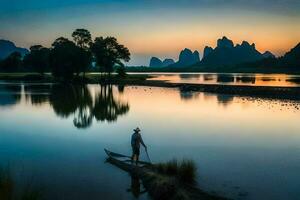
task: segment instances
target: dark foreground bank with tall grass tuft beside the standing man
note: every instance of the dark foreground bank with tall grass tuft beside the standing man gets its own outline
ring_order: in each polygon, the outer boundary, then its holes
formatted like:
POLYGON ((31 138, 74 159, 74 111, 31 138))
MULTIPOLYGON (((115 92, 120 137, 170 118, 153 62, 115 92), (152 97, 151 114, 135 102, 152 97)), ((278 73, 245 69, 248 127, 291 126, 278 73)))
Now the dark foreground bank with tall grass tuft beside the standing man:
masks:
POLYGON ((197 168, 191 160, 172 160, 143 167, 124 164, 113 157, 107 158, 107 162, 128 172, 132 182, 139 185, 141 180, 153 200, 226 200, 224 197, 204 192, 198 187, 197 168))

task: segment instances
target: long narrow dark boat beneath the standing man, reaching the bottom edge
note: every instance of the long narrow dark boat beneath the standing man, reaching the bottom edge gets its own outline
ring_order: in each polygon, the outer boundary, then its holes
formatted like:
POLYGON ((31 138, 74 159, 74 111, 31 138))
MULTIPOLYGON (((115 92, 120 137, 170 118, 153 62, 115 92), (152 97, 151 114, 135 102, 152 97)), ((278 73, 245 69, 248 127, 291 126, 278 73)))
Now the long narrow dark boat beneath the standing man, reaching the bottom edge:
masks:
POLYGON ((154 200, 225 200, 225 198, 208 194, 192 185, 183 185, 176 177, 159 174, 155 171, 155 165, 149 162, 132 162, 130 156, 115 153, 104 149, 107 154, 107 162, 128 172, 131 176, 138 177, 142 181, 149 196, 154 200))

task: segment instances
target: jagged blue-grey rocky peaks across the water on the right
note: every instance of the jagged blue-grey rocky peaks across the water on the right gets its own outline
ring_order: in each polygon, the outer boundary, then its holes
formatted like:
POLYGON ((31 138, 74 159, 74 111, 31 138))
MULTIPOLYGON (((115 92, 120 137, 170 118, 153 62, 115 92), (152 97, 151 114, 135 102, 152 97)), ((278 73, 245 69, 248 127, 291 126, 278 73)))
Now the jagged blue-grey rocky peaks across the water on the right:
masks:
MULTIPOLYGON (((245 62, 255 62, 264 58, 275 58, 270 52, 260 53, 255 48, 255 44, 249 44, 243 41, 241 44, 234 45, 233 41, 227 37, 218 39, 215 48, 206 46, 203 50, 203 58, 200 61, 198 51, 192 52, 190 49, 184 49, 179 54, 179 60, 176 63, 168 64, 168 67, 188 67, 188 66, 227 66, 236 65, 245 62)), ((158 58, 151 58, 150 67, 166 67, 158 58)))

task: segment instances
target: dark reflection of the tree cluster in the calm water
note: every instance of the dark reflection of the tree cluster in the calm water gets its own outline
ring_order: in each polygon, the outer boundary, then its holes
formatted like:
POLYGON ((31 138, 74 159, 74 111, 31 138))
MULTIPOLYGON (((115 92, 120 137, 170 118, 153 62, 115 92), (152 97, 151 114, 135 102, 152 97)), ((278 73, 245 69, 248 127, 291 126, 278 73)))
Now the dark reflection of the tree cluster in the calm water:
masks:
MULTIPOLYGON (((57 116, 74 116, 73 124, 79 129, 88 128, 93 119, 114 122, 129 111, 129 104, 114 97, 113 86, 99 86, 93 96, 86 85, 54 84, 48 87, 26 86, 26 99, 33 105, 49 101, 57 116)), ((124 90, 124 89, 123 89, 124 90)))

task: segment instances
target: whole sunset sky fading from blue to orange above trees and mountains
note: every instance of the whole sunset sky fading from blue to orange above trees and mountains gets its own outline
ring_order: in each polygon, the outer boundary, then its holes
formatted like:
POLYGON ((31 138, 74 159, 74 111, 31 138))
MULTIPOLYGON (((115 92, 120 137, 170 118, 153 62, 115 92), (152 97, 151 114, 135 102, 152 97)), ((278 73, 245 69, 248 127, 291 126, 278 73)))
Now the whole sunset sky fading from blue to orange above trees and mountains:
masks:
POLYGON ((76 28, 115 36, 132 53, 177 59, 183 48, 203 52, 223 35, 282 55, 300 42, 299 0, 1 0, 0 38, 17 46, 50 47, 76 28))

